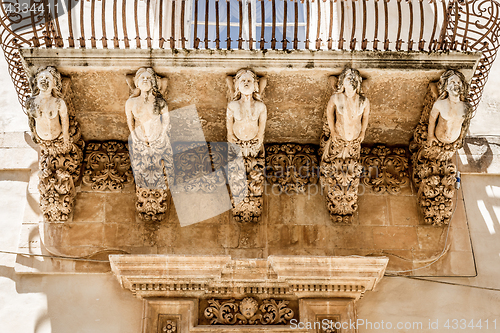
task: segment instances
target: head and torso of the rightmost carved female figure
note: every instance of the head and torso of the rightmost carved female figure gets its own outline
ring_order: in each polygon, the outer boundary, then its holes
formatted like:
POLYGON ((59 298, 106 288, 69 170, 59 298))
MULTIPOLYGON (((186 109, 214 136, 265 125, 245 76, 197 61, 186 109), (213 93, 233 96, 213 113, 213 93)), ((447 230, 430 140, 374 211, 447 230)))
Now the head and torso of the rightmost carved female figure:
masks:
POLYGON ((469 112, 467 83, 462 73, 448 70, 439 79, 439 97, 432 106, 427 146, 439 141, 453 143, 462 136, 462 125, 469 112))

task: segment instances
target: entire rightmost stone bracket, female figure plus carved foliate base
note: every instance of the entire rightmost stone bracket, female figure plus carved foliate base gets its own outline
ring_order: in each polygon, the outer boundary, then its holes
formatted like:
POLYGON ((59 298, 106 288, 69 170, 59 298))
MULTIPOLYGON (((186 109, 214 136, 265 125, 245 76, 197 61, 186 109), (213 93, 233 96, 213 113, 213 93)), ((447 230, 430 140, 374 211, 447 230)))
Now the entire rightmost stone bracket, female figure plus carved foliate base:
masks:
POLYGON ((448 70, 429 84, 410 151, 412 178, 426 224, 448 224, 452 216, 457 167, 452 162, 462 147, 472 117, 468 84, 462 73, 448 70))

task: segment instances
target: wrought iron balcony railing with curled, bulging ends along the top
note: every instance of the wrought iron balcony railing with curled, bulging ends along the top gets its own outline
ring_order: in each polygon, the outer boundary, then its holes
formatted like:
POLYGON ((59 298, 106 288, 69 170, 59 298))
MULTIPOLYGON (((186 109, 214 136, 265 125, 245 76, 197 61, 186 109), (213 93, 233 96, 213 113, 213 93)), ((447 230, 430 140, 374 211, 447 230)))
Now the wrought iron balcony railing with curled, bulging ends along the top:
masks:
POLYGON ((1 47, 23 106, 21 47, 481 51, 477 107, 499 46, 493 0, 2 1, 1 47), (41 11, 19 15, 20 1, 41 11))

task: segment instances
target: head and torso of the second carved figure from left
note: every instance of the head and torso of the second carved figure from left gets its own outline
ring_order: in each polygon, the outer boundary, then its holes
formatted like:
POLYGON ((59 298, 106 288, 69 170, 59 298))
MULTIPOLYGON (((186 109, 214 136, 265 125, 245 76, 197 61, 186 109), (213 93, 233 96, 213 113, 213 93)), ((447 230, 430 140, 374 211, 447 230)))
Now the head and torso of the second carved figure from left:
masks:
POLYGON ((125 104, 132 140, 150 144, 165 139, 170 121, 156 73, 152 68, 140 68, 133 82, 136 89, 125 104))

